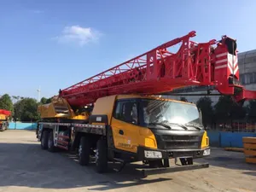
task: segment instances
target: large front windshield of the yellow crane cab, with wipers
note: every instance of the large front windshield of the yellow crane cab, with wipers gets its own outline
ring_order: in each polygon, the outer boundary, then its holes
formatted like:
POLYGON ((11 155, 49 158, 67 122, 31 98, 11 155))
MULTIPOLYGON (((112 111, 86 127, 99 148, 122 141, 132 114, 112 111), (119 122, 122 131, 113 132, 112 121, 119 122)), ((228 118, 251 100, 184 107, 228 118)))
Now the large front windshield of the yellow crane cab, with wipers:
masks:
POLYGON ((171 128, 172 125, 195 126, 202 129, 201 113, 195 105, 183 102, 143 99, 140 102, 140 123, 143 126, 161 125, 171 128))

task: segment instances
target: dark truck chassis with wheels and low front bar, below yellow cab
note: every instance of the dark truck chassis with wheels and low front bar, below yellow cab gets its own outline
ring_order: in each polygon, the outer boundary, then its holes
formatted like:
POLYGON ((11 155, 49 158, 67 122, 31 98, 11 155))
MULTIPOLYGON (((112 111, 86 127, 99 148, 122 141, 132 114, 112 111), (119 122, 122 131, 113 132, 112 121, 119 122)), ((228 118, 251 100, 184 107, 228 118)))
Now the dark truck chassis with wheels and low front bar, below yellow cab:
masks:
MULTIPOLYGON (((126 163, 134 161, 143 161, 144 164, 149 164, 148 168, 140 170, 144 177, 167 172, 181 172, 209 167, 208 163, 194 164, 193 159, 199 154, 197 151, 191 150, 189 153, 172 153, 171 158, 175 158, 175 162, 179 158, 182 165, 170 166, 169 159, 153 160, 139 155, 124 154, 119 149, 113 148, 112 131, 109 125, 91 125, 84 123, 56 123, 56 122, 38 122, 37 130, 38 141, 41 142, 41 148, 48 149, 50 152, 55 152, 57 148, 62 148, 67 151, 73 151, 78 154, 79 164, 87 166, 90 163, 90 156, 95 157, 96 171, 107 172, 108 161, 120 162, 121 166, 117 172, 120 172, 126 163), (187 156, 186 154, 189 154, 187 156), (163 164, 162 164, 163 160, 163 164), (160 166, 157 166, 159 165, 160 166)), ((210 149, 209 149, 210 150, 210 149)), ((170 154, 168 151, 166 153, 170 154)), ((208 154, 201 154, 208 155, 208 154)))

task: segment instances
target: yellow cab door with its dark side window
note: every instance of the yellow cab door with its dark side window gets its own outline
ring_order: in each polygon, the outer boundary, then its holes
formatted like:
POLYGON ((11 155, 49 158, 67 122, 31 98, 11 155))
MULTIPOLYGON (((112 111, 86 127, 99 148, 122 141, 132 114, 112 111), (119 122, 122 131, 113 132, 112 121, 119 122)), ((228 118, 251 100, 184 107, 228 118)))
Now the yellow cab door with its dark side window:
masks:
POLYGON ((117 100, 111 127, 114 147, 137 153, 139 143, 138 104, 135 99, 117 100))

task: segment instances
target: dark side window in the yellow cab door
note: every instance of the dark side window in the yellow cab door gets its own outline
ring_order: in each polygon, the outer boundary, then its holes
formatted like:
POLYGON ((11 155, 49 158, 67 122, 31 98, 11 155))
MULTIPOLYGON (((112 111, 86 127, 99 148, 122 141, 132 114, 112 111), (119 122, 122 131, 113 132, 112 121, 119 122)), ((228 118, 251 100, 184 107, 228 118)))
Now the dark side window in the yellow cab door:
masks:
POLYGON ((117 101, 113 117, 127 123, 137 124, 137 102, 117 101))

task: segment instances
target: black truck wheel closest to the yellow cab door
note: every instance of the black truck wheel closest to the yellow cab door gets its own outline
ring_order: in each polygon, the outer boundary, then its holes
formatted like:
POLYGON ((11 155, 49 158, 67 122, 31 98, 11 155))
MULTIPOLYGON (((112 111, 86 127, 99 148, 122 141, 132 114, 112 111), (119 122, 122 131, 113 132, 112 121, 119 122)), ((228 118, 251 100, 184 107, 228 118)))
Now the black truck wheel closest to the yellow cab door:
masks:
POLYGON ((108 170, 108 148, 105 139, 100 138, 96 143, 96 171, 99 173, 107 172, 108 170))

